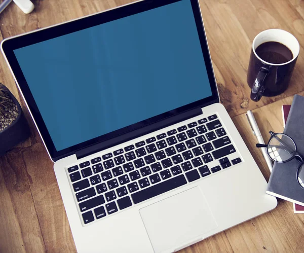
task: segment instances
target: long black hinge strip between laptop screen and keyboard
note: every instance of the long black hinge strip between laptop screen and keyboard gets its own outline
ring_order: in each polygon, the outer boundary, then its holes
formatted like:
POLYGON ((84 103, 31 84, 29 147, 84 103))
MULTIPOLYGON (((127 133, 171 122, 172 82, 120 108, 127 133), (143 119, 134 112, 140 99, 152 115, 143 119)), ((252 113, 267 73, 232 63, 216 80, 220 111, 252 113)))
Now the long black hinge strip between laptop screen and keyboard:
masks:
POLYGON ((119 135, 117 137, 99 142, 99 143, 95 143, 89 147, 86 147, 82 150, 78 150, 75 152, 75 155, 77 156, 77 159, 81 159, 83 157, 92 155, 94 153, 97 153, 99 151, 111 148, 113 146, 116 146, 120 143, 126 142, 128 140, 131 139, 135 139, 137 137, 140 137, 142 135, 157 131, 159 129, 162 129, 164 127, 173 125, 175 123, 187 120, 187 119, 191 119, 195 116, 198 116, 200 114, 203 114, 201 107, 197 107, 196 109, 193 110, 189 110, 183 113, 180 113, 178 115, 174 115, 171 116, 169 118, 166 118, 164 120, 160 120, 156 123, 147 125, 145 127, 142 127, 140 129, 136 129, 134 131, 119 135))

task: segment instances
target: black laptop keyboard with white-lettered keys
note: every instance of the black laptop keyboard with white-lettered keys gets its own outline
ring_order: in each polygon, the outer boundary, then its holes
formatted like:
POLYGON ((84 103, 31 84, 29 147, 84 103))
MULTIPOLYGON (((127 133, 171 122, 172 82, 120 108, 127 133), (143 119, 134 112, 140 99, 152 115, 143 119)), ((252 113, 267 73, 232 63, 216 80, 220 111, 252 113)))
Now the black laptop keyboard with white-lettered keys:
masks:
POLYGON ((241 162, 217 115, 67 168, 84 224, 241 162), (208 163, 218 160, 212 167, 208 163))

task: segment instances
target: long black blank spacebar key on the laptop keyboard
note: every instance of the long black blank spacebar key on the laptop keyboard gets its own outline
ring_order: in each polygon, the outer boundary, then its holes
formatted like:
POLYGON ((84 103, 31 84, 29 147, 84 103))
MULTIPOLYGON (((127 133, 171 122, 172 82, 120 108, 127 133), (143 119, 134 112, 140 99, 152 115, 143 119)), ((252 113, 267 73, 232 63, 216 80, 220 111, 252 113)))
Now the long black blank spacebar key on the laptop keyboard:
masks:
POLYGON ((168 192, 177 187, 185 185, 186 183, 187 183, 187 181, 185 179, 185 176, 179 175, 179 176, 173 177, 169 180, 166 180, 160 184, 152 186, 150 188, 146 188, 140 192, 133 193, 133 194, 131 194, 131 197, 133 199, 134 204, 137 204, 144 200, 147 200, 147 199, 153 198, 157 195, 160 195, 164 192, 168 192))

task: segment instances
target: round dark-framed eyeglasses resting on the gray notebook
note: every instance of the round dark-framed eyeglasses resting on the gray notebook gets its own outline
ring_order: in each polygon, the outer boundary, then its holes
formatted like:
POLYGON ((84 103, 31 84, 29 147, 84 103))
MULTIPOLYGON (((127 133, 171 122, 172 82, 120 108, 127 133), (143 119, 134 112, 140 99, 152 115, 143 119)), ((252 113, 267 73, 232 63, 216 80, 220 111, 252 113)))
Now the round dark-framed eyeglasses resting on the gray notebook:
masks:
POLYGON ((271 137, 268 144, 256 144, 257 148, 267 148, 271 160, 277 163, 286 163, 295 158, 300 162, 296 178, 299 185, 304 189, 304 157, 296 150, 294 140, 284 133, 269 132, 271 137))

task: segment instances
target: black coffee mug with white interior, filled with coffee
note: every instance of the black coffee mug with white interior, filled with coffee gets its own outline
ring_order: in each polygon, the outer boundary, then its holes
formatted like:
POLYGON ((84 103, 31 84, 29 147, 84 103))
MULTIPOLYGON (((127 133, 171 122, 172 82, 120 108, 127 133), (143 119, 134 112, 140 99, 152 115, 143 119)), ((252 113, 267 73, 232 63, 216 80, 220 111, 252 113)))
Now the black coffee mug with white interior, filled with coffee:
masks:
POLYGON ((287 31, 269 29, 256 35, 247 74, 253 101, 277 96, 288 88, 299 51, 298 41, 287 31))

